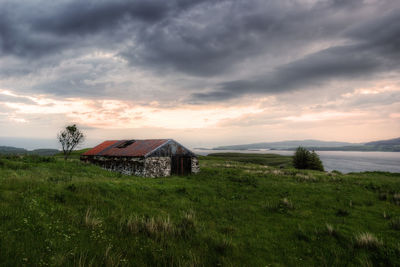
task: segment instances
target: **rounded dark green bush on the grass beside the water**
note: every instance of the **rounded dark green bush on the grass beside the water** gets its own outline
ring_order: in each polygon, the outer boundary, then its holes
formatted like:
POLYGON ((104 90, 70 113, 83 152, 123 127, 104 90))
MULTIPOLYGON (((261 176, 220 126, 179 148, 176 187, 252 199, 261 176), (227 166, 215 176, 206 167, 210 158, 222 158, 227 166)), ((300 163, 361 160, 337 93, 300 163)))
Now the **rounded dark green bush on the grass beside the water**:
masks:
POLYGON ((304 147, 298 147, 293 155, 293 166, 296 169, 309 169, 324 171, 324 166, 315 151, 308 151, 304 147))

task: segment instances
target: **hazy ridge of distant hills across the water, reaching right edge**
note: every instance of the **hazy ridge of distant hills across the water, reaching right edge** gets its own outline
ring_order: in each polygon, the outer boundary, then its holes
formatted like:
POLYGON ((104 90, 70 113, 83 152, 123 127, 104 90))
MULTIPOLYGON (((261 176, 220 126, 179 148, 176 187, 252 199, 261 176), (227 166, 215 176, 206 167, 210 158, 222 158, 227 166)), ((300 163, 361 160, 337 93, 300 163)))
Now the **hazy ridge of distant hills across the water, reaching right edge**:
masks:
POLYGON ((320 151, 391 151, 400 152, 400 138, 379 140, 368 143, 346 143, 336 141, 320 140, 293 140, 270 143, 254 143, 244 145, 219 146, 214 150, 249 150, 249 149, 271 149, 271 150, 294 150, 302 146, 310 150, 320 151))

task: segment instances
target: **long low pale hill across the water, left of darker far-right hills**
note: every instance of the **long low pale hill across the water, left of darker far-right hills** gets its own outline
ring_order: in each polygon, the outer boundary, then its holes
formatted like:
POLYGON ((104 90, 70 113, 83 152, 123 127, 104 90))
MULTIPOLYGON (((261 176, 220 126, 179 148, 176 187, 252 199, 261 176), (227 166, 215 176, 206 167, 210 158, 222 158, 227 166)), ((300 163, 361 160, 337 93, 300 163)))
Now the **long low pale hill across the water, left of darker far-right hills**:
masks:
POLYGON ((347 142, 335 142, 335 141, 320 141, 320 140, 291 140, 281 142, 269 142, 269 143, 254 143, 244 145, 231 145, 231 146, 219 146, 213 148, 215 150, 247 150, 247 149, 292 149, 295 147, 341 147, 341 146, 352 146, 360 145, 355 143, 347 142))

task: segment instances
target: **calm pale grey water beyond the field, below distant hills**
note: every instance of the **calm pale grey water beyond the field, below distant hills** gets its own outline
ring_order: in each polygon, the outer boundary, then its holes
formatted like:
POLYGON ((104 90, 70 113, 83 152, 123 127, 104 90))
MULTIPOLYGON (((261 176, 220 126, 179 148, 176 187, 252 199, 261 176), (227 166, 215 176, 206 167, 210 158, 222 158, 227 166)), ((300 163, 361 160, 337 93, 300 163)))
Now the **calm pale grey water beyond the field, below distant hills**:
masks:
MULTIPOLYGON (((270 153, 293 155, 285 150, 193 150, 200 155, 218 152, 270 153)), ((387 171, 400 173, 400 152, 317 151, 325 170, 343 173, 363 171, 387 171)))

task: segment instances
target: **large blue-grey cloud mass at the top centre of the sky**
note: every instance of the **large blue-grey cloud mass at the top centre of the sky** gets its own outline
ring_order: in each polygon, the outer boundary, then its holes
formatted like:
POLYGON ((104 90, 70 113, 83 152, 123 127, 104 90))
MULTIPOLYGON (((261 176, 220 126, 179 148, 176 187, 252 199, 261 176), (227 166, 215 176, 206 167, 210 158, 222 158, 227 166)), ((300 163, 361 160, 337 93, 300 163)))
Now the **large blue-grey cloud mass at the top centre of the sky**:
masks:
POLYGON ((283 48, 300 48, 346 27, 346 21, 329 16, 334 6, 307 9, 294 1, 210 5, 184 19, 144 29, 139 43, 121 55, 132 65, 208 77, 231 70, 246 58, 285 53, 283 48))

